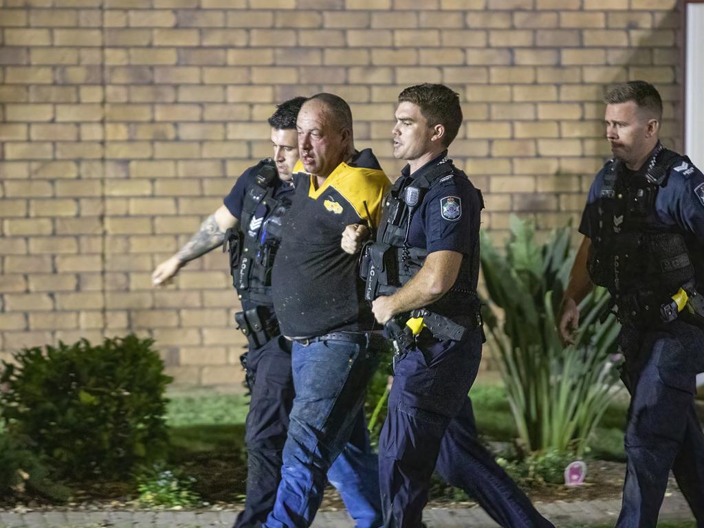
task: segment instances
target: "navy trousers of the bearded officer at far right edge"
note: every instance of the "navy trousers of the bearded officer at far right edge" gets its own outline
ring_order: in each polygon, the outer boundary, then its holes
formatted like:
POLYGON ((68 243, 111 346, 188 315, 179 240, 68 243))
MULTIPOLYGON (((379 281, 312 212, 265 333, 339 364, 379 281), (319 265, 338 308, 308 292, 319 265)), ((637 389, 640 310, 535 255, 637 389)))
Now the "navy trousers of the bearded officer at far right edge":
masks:
POLYGON ((704 371, 704 332, 677 320, 648 332, 624 325, 619 338, 631 406, 616 526, 655 527, 672 470, 697 526, 704 527, 704 434, 694 409, 696 374, 704 371))

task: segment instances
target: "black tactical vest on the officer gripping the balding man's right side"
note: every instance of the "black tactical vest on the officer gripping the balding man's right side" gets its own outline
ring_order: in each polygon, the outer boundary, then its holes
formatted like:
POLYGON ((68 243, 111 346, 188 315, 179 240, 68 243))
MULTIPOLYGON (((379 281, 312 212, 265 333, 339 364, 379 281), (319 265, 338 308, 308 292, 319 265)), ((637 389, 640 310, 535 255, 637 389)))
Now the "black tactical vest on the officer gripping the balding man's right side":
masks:
MULTIPOLYGON (((444 177, 460 177, 448 158, 426 171, 420 177, 400 177, 384 200, 382 224, 377 239, 367 244, 360 268, 366 280, 365 298, 372 301, 380 295, 394 294, 422 268, 427 257, 425 248, 408 244, 408 230, 428 189, 444 177)), ((466 176, 465 176, 466 177, 466 176)), ((484 208, 482 193, 480 208, 484 208)), ((455 318, 458 313, 473 319, 479 308, 477 281, 479 278, 479 237, 474 242, 472 258, 463 258, 458 278, 453 287, 438 301, 426 308, 434 313, 455 318)))

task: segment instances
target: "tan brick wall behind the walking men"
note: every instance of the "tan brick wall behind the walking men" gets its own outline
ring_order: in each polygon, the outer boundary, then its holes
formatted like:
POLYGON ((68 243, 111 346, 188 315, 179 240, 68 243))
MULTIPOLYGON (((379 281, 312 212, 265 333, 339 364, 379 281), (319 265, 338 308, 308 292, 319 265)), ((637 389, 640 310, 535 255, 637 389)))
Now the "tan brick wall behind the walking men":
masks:
POLYGON ((609 84, 655 82, 679 148, 675 0, 0 0, 0 350, 135 331, 177 382, 241 378, 219 251, 156 263, 268 155, 273 104, 321 90, 394 174, 395 98, 460 92, 451 153, 510 211, 576 220, 608 148, 609 84))

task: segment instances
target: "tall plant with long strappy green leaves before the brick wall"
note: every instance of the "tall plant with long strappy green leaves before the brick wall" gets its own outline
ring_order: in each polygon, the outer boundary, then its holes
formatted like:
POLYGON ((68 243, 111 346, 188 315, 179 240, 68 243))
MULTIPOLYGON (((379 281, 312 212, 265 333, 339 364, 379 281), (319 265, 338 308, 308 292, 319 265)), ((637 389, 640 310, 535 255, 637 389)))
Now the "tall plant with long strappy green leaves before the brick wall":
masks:
POLYGON ((613 315, 598 321, 608 294, 594 289, 579 305, 575 344, 563 348, 555 317, 574 261, 570 227, 555 230, 542 245, 529 222, 512 216, 510 229, 504 253, 482 232, 489 294, 484 315, 520 442, 527 451, 582 454, 618 381, 618 325, 613 315))

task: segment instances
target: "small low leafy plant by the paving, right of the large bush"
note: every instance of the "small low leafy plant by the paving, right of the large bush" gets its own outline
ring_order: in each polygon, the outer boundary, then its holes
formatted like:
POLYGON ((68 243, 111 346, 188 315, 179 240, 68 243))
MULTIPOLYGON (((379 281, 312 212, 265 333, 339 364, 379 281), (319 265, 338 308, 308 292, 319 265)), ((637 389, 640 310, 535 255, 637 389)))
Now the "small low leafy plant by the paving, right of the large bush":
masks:
POLYGON ((156 465, 151 472, 137 479, 139 505, 142 508, 195 508, 202 504, 201 498, 193 491, 195 482, 194 477, 156 465))

